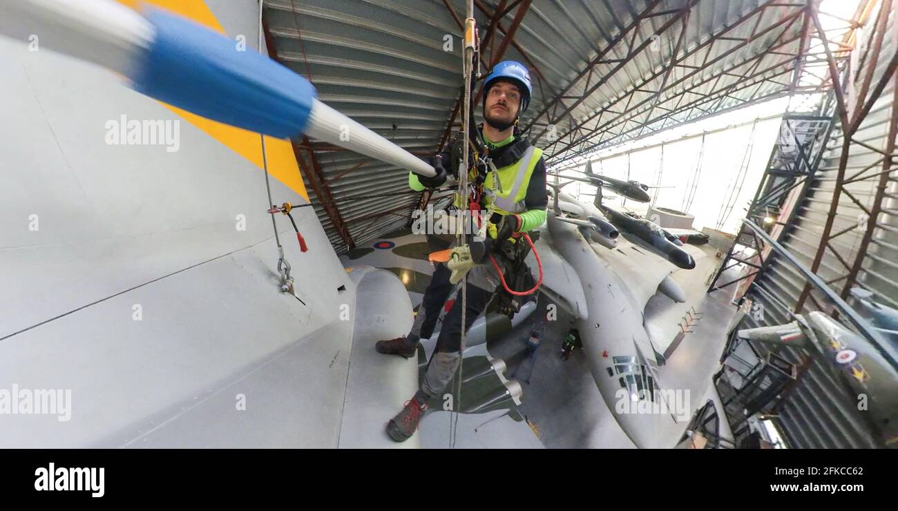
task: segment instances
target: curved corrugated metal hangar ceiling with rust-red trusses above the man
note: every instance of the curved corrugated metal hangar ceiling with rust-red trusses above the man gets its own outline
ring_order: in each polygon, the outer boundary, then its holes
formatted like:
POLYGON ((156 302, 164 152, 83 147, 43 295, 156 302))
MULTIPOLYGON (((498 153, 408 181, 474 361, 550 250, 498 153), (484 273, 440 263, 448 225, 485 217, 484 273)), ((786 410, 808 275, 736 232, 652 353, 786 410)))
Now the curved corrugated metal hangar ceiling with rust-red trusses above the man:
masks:
MULTIPOLYGON (((462 0, 266 0, 271 53, 309 78, 321 101, 414 154, 444 140, 462 81, 462 0), (451 51, 445 51, 447 40, 451 51)), ((524 62, 534 94, 522 119, 561 163, 714 112, 785 93, 799 51, 804 2, 761 0, 477 0, 481 40, 526 9, 502 58, 524 62), (685 23, 682 21, 685 20, 685 23), (674 62, 674 50, 676 60, 674 62), (664 87, 662 87, 664 84, 664 87), (569 110, 569 111, 566 111, 569 110), (548 130, 547 127, 554 127, 548 130), (553 137, 554 135, 554 137, 553 137)), ((478 109, 480 110, 480 109, 478 109)), ((479 112, 478 112, 479 113, 479 112)), ((454 124, 459 124, 454 119, 454 124)), ((297 140, 302 144, 302 141, 297 140)), ((409 221, 419 194, 405 172, 313 143, 330 212, 312 197, 338 252, 409 221), (395 195, 401 193, 402 195, 395 195), (389 197, 374 197, 393 194, 389 197), (339 233, 333 218, 346 225, 339 233)), ((308 178, 307 178, 308 179, 308 178)))

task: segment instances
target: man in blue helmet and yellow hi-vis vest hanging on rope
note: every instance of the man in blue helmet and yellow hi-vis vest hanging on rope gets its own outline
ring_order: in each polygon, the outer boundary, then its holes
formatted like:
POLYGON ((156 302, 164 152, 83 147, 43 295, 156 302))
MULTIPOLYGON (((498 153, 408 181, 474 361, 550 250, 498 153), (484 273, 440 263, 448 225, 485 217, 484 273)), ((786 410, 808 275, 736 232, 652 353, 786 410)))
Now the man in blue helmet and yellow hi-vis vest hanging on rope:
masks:
MULTIPOLYGON (((526 269, 521 250, 523 239, 513 240, 516 233, 527 233, 536 229, 546 219, 549 199, 546 194, 546 169, 541 149, 533 146, 516 130, 519 115, 527 109, 532 88, 530 75, 522 64, 506 60, 498 63, 487 75, 484 85, 483 118, 486 124, 476 129, 472 137, 480 139, 484 153, 494 163, 496 172, 485 172, 479 165, 473 173, 471 183, 470 208, 489 211, 488 236, 478 240, 468 236, 470 253, 464 247, 453 248, 453 259, 448 263, 436 263, 436 270, 427 286, 418 315, 405 337, 381 340, 376 344, 383 354, 415 357, 418 340, 433 335, 436 320, 446 299, 453 292, 455 284, 467 278, 467 306, 464 312, 464 330, 483 313, 490 299, 503 289, 499 270, 506 276, 506 284, 516 290, 528 289, 533 285, 533 277, 526 269), (479 173, 479 179, 478 179, 479 173), (498 182, 494 186, 494 174, 498 182), (479 185, 479 186, 478 186, 479 185), (495 195, 495 197, 493 197, 495 195), (490 255, 493 257, 490 260, 490 255), (469 257, 470 256, 470 257, 469 257), (514 269, 515 271, 510 271, 514 269), (526 270, 526 277, 521 278, 526 270)), ((467 148, 465 148, 467 149, 467 148)), ((482 154, 481 154, 482 155, 482 154)), ((436 176, 425 178, 409 173, 409 187, 418 191, 434 189, 446 181, 444 164, 452 167, 452 152, 437 154, 429 161, 436 169, 436 176)), ((469 176, 472 175, 469 173, 469 176)), ((456 194, 456 206, 458 206, 456 194)), ((463 242, 462 242, 463 243, 463 242)), ((387 424, 387 433, 397 442, 403 442, 418 429, 418 422, 427 410, 427 400, 447 390, 462 358, 462 295, 454 301, 445 314, 434 354, 427 366, 427 374, 418 392, 409 400, 403 410, 387 424)))

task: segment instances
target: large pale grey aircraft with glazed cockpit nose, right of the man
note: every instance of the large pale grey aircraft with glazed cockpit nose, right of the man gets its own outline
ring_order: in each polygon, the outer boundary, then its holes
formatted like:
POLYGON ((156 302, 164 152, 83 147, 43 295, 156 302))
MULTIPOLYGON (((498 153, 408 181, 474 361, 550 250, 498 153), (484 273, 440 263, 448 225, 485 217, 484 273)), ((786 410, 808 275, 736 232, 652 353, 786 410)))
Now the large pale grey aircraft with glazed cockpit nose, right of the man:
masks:
MULTIPOLYGON (((550 183, 550 192, 548 230, 536 242, 545 273, 542 291, 574 316, 594 382, 621 429, 638 447, 658 446, 659 427, 688 417, 676 412, 672 394, 661 392, 658 369, 665 360, 648 336, 643 311, 656 293, 686 301, 671 277, 679 268, 657 251, 644 250, 638 236, 628 236, 621 228, 628 223, 609 222, 595 205, 558 185, 550 183)), ((697 248, 675 248, 693 267, 694 258, 704 257, 697 248)))

